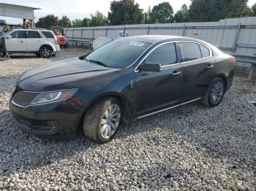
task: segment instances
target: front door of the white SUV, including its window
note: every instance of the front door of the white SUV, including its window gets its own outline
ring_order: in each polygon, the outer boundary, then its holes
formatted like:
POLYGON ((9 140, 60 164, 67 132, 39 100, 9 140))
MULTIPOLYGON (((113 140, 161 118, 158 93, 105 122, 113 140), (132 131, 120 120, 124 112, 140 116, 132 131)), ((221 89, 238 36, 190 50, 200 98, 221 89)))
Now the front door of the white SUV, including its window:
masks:
POLYGON ((12 31, 10 33, 12 38, 5 38, 5 46, 8 52, 26 52, 26 31, 12 31))

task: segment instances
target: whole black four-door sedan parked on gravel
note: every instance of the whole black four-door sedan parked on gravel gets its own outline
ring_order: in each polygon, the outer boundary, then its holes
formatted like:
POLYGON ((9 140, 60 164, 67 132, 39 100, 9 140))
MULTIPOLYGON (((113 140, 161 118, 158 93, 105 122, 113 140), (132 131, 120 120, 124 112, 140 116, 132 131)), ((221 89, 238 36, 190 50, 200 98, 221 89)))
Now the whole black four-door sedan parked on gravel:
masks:
POLYGON ((10 110, 18 127, 34 135, 72 139, 83 127, 87 139, 102 144, 132 118, 193 101, 218 106, 235 65, 233 56, 199 39, 126 37, 24 72, 10 110))

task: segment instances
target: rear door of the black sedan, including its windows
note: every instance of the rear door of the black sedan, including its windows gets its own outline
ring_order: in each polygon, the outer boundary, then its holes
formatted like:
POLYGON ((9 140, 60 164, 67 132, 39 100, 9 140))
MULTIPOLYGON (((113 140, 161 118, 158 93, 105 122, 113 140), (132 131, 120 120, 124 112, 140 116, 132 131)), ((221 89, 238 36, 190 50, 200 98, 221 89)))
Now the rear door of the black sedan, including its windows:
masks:
POLYGON ((206 94, 214 79, 214 57, 211 49, 196 42, 180 42, 184 65, 184 87, 181 102, 191 101, 206 94))

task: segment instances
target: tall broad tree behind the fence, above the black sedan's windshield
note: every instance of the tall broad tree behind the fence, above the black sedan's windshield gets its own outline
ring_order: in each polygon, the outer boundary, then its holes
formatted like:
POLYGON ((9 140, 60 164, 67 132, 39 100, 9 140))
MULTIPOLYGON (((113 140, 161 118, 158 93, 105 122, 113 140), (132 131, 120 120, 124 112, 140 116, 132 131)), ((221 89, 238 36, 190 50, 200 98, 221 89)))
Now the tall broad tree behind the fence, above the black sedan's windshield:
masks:
POLYGON ((143 10, 134 0, 112 1, 108 20, 111 25, 129 25, 143 23, 143 10))

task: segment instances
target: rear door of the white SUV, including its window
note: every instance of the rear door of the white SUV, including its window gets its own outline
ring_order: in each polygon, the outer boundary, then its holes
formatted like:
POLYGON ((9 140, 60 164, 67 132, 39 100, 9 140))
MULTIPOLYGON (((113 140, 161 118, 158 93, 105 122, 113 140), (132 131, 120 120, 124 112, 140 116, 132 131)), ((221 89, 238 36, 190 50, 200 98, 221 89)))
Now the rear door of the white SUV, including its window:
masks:
POLYGON ((38 31, 27 31, 28 39, 27 39, 27 51, 28 52, 38 52, 39 48, 43 44, 43 39, 41 34, 38 31))

